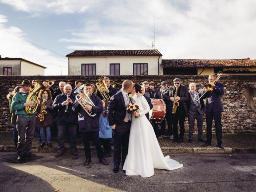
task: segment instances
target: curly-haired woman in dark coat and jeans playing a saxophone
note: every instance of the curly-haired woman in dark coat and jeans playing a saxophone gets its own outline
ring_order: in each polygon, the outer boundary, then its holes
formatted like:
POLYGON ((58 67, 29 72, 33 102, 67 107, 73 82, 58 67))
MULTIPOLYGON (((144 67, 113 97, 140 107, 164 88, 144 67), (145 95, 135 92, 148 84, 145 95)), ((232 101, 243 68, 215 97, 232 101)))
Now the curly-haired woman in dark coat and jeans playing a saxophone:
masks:
POLYGON ((45 132, 47 136, 47 146, 52 147, 52 144, 51 144, 51 126, 53 125, 52 94, 50 90, 46 89, 46 90, 40 90, 38 96, 40 99, 40 105, 38 105, 38 108, 37 108, 36 116, 38 116, 38 118, 36 119, 36 126, 40 130, 40 135, 42 140, 41 147, 45 146, 45 132), (46 111, 46 114, 42 113, 43 110, 46 111))

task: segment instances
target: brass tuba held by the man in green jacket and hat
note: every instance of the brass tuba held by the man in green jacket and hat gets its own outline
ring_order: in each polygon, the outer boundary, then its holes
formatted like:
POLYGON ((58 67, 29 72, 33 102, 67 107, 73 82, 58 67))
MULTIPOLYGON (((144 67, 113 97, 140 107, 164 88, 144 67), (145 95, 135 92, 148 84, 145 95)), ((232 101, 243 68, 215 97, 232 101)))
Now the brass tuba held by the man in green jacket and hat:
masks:
POLYGON ((34 105, 25 107, 26 114, 33 115, 36 112, 36 109, 38 107, 38 104, 37 104, 38 96, 36 95, 36 93, 43 88, 45 88, 44 84, 42 84, 40 81, 36 81, 36 85, 34 86, 33 89, 30 90, 30 93, 28 94, 28 97, 26 100, 26 102, 33 101, 34 105))

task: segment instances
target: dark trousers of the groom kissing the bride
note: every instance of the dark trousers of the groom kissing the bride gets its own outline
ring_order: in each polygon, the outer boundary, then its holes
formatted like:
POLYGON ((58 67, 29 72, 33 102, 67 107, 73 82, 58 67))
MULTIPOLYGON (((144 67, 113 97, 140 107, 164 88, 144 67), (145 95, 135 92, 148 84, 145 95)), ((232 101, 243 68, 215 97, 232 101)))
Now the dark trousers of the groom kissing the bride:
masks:
POLYGON ((124 122, 121 125, 116 125, 114 129, 114 166, 118 166, 122 160, 122 167, 124 166, 125 158, 128 154, 129 136, 130 136, 131 122, 124 122), (122 158, 121 158, 122 152, 122 158))

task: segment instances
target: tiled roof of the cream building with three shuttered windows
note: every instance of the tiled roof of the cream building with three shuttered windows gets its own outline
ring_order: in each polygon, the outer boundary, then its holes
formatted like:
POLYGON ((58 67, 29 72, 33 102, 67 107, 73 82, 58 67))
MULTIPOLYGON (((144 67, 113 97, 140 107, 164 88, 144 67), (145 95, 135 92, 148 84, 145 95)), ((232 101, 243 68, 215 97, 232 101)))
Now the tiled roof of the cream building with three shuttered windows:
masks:
POLYGON ((87 57, 87 56, 162 56, 157 49, 150 50, 88 50, 74 51, 66 57, 87 57))

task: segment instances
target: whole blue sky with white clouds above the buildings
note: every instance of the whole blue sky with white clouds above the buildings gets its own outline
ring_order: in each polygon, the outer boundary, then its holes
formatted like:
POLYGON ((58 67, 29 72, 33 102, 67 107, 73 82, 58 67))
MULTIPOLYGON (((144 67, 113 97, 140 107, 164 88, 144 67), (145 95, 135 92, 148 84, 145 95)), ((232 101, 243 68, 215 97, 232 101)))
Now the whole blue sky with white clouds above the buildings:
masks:
MULTIPOLYGON (((0 28, 66 56, 149 49, 160 18, 156 48, 164 59, 255 59, 255 7, 255 0, 0 0, 0 28)), ((46 66, 46 75, 68 65, 1 29, 0 55, 46 66)))

